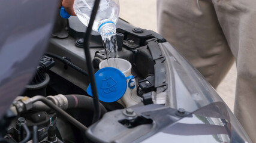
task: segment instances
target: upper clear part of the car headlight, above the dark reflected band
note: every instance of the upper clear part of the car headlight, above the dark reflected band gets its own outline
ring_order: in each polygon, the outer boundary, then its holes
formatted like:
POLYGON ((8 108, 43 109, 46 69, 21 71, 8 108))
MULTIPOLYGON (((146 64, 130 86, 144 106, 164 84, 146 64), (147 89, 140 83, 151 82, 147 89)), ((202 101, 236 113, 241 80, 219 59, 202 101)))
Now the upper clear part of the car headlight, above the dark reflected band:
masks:
POLYGON ((166 57, 168 106, 193 112, 213 102, 224 102, 204 77, 170 43, 159 43, 166 57))

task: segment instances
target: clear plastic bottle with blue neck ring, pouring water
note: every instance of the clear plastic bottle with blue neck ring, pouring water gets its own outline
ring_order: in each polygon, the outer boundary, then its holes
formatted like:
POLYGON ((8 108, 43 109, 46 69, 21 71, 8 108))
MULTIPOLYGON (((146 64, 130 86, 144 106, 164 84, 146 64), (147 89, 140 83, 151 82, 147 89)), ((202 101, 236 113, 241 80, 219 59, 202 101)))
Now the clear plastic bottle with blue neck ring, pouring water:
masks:
MULTIPOLYGON (((85 26, 88 26, 94 0, 75 0, 74 11, 85 26)), ((117 58, 116 23, 119 17, 118 0, 101 0, 92 30, 100 33, 107 59, 117 58)))

